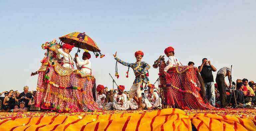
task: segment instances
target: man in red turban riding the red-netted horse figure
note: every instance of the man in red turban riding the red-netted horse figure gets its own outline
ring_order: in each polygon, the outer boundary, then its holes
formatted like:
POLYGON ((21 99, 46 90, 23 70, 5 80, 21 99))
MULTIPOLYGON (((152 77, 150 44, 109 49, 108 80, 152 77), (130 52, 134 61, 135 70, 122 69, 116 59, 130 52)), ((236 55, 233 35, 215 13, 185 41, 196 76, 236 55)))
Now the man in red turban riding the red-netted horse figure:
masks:
POLYGON ((182 65, 181 62, 174 56, 174 48, 173 47, 167 47, 165 49, 165 54, 168 57, 167 66, 164 68, 164 71, 167 72, 170 68, 182 65))

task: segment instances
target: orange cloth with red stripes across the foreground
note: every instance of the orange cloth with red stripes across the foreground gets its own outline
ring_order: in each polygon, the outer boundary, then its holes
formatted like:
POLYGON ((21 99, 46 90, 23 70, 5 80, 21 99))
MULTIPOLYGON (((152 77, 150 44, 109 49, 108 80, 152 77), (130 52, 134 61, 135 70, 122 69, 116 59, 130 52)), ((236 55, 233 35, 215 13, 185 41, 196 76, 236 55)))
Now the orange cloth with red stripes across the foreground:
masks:
POLYGON ((142 113, 56 115, 0 120, 1 131, 192 131, 192 124, 199 131, 206 130, 255 130, 253 117, 221 116, 215 114, 186 115, 181 109, 162 109, 142 113))

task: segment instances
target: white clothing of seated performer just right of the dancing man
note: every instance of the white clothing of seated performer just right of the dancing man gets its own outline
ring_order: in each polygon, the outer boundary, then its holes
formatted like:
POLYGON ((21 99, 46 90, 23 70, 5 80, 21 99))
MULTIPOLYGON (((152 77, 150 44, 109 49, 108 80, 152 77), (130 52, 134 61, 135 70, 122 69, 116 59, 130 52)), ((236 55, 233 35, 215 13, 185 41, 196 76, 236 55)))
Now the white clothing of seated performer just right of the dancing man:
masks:
POLYGON ((152 94, 146 93, 144 98, 144 104, 146 108, 155 108, 158 106, 162 107, 162 100, 156 92, 153 92, 152 94))

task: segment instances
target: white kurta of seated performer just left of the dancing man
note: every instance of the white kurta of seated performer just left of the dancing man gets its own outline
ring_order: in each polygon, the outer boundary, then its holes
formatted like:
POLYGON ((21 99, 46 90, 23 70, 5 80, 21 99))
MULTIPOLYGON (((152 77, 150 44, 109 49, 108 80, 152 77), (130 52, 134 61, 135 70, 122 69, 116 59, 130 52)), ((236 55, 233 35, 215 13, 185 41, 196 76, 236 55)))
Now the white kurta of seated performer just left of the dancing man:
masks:
POLYGON ((130 108, 130 101, 127 101, 127 96, 123 93, 122 95, 115 94, 113 99, 113 108, 118 110, 127 110, 130 108), (121 103, 121 100, 123 103, 121 103))

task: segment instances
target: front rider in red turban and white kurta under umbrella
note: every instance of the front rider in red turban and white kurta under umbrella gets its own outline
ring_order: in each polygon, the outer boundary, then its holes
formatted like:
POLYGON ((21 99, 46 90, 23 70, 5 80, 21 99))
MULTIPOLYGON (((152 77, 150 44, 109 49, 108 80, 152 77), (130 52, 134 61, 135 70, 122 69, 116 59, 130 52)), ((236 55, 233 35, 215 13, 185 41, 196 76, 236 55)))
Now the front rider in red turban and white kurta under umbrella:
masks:
POLYGON ((61 61, 61 64, 63 67, 66 68, 74 68, 73 66, 73 59, 71 55, 69 54, 74 46, 69 44, 63 44, 62 49, 56 50, 56 53, 59 53, 63 56, 63 59, 61 61))

